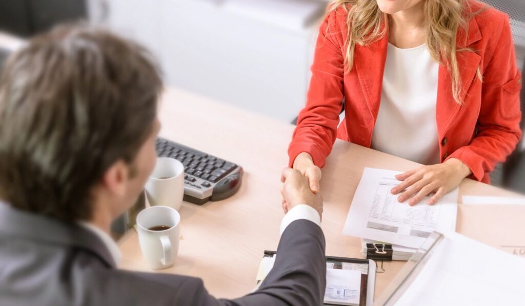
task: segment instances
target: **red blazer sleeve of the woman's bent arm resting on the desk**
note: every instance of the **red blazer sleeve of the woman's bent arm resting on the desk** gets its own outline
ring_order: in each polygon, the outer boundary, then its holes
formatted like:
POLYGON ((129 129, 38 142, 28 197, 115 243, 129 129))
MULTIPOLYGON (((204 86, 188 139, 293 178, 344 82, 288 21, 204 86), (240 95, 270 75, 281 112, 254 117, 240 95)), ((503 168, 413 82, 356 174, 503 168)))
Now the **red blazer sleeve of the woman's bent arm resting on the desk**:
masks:
POLYGON ((522 134, 519 125, 521 76, 507 16, 496 46, 483 76, 478 133, 469 145, 460 147, 447 158, 465 163, 478 181, 498 162, 505 161, 522 134))

